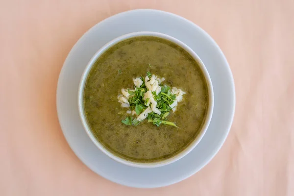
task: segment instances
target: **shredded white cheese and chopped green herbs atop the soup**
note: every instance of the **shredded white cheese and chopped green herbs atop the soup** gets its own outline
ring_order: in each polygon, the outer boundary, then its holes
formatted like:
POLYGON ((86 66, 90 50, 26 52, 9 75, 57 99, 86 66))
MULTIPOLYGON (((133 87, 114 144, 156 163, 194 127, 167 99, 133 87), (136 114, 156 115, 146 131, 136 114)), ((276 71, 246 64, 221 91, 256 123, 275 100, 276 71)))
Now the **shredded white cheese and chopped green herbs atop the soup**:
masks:
MULTIPOLYGON (((137 126, 141 121, 148 119, 149 123, 157 126, 167 124, 176 126, 174 123, 165 121, 170 115, 170 111, 176 111, 176 106, 183 100, 186 94, 181 89, 160 86, 165 80, 147 72, 146 77, 137 77, 133 79, 135 89, 122 89, 118 96, 118 101, 122 107, 128 108, 127 114, 136 115, 126 117, 122 123, 126 125, 137 126)), ((177 126, 176 126, 177 127, 177 126)))

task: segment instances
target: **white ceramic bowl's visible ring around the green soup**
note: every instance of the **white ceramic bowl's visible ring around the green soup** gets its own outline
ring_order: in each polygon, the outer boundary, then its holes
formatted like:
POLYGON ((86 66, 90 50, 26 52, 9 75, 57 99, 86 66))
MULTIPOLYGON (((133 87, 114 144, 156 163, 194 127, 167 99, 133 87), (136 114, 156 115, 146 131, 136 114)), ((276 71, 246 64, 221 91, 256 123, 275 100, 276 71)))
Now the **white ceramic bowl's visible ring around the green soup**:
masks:
POLYGON ((80 84, 79 84, 79 87, 78 87, 78 110, 79 110, 79 116, 81 118, 84 129, 85 129, 86 133, 88 134, 88 136, 90 137, 90 139, 92 140, 92 142, 96 145, 96 147, 98 147, 103 153, 105 153, 107 156, 109 156, 113 160, 118 161, 118 162, 123 163, 123 164, 128 165, 128 166, 133 166, 133 167, 138 167, 138 168, 156 168, 156 167, 160 167, 160 166, 165 166, 165 165, 168 165, 170 163, 173 163, 173 162, 179 160, 180 158, 187 155, 191 150, 193 150, 193 148, 196 147, 196 145, 200 142, 200 140, 202 139, 203 135, 205 134, 205 132, 206 132, 206 130, 208 128, 208 125, 210 123, 212 113, 213 113, 213 104, 214 104, 214 98, 213 98, 212 82, 211 82, 211 79, 209 77, 209 74, 208 74, 203 62, 198 57, 198 55, 192 49, 190 49, 186 44, 184 44, 183 42, 173 38, 172 36, 169 36, 169 35, 166 35, 166 34, 163 34, 163 33, 158 33, 158 32, 142 31, 142 32, 129 33, 129 34, 125 34, 123 36, 120 36, 118 38, 115 38, 112 41, 105 44, 101 49, 99 49, 94 54, 94 56, 91 58, 91 60, 87 64, 86 69, 82 74, 80 84), (139 37, 139 36, 153 36, 153 37, 163 38, 163 39, 169 40, 169 41, 175 43, 176 45, 180 46, 181 48, 185 49, 198 62, 198 65, 199 65, 202 73, 204 74, 204 77, 205 77, 207 85, 208 85, 208 95, 209 95, 208 96, 209 97, 208 103, 209 104, 208 104, 208 110, 207 110, 207 114, 206 114, 207 116, 205 118, 205 122, 204 122, 199 134, 197 135, 197 137, 194 139, 193 142, 191 142, 191 144, 188 147, 186 147, 183 151, 176 154, 175 156, 172 156, 171 158, 168 158, 168 159, 165 159, 165 160, 162 160, 162 161, 152 162, 152 163, 142 163, 142 162, 129 161, 129 160, 123 159, 123 158, 113 154, 112 152, 110 152, 93 135, 93 133, 91 131, 91 127, 87 123, 87 119, 86 119, 86 116, 84 114, 83 94, 84 94, 84 88, 85 88, 86 79, 88 77, 89 72, 92 69, 92 66, 95 64, 95 62, 100 57, 100 55, 103 54, 110 47, 116 45, 119 42, 122 42, 123 40, 129 39, 129 38, 132 38, 132 37, 139 37))

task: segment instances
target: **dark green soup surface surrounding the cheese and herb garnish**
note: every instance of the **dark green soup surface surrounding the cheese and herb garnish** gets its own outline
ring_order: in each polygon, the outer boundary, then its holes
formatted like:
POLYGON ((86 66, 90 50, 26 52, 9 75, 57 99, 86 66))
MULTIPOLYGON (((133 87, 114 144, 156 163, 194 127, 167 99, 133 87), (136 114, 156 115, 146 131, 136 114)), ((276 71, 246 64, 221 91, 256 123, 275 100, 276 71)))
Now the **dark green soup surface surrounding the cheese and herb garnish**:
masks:
POLYGON ((104 52, 91 69, 84 90, 84 110, 92 132, 109 151, 136 162, 170 158, 187 147, 199 133, 208 108, 208 87, 197 62, 172 42, 156 37, 130 38, 104 52), (127 114, 117 96, 134 89, 133 78, 147 72, 165 77, 163 85, 186 92, 169 125, 138 126, 122 123, 127 114))

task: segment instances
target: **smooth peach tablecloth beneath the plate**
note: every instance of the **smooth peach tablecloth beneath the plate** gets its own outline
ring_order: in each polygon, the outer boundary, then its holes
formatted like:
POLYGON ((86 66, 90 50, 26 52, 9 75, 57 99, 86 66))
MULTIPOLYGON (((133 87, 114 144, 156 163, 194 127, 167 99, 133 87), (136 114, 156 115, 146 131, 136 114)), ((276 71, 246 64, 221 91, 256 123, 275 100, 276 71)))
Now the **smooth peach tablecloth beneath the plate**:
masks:
POLYGON ((0 0, 0 196, 293 196, 293 0, 0 0), (56 86, 74 43, 130 9, 183 16, 220 45, 236 85, 231 132, 192 177, 135 189, 92 172, 56 115, 56 86))

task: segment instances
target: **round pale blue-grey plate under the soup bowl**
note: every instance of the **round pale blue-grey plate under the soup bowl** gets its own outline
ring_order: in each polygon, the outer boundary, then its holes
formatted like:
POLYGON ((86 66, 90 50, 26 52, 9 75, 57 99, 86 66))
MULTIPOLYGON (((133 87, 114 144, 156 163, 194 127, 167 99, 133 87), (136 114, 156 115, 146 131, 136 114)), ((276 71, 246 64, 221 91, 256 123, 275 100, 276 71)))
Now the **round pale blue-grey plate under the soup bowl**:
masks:
POLYGON ((94 172, 130 187, 167 186, 199 171, 221 148, 230 130, 234 110, 233 76, 218 45, 192 22, 158 10, 123 12, 88 30, 66 58, 57 86, 58 119, 74 153, 94 172), (83 130, 77 108, 79 80, 91 57, 110 40, 137 31, 165 33, 187 44, 203 61, 214 87, 214 112, 201 142, 184 158, 170 165, 152 169, 126 166, 102 153, 83 130))

